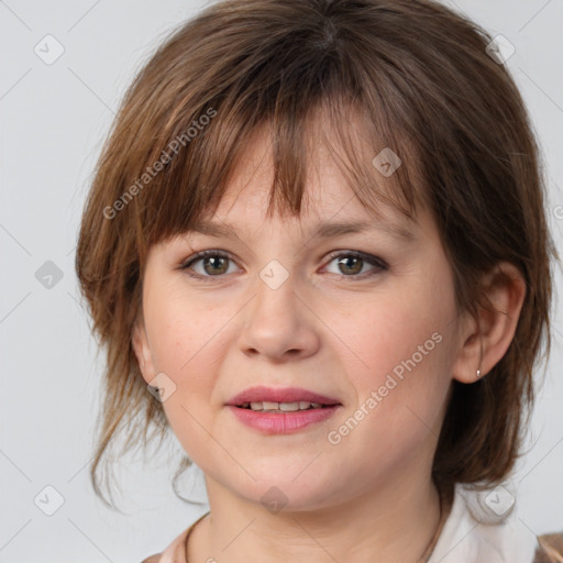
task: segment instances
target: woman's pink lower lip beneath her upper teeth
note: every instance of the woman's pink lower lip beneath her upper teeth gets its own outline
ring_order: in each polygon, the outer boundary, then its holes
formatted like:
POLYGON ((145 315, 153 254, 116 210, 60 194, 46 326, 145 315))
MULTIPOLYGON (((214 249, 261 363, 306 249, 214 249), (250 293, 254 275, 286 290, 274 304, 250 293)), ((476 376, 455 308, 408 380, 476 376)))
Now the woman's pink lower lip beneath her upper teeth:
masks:
POLYGON ((341 405, 320 409, 294 410, 290 412, 262 412, 229 405, 228 408, 244 424, 267 434, 287 434, 316 422, 322 422, 334 415, 341 405))

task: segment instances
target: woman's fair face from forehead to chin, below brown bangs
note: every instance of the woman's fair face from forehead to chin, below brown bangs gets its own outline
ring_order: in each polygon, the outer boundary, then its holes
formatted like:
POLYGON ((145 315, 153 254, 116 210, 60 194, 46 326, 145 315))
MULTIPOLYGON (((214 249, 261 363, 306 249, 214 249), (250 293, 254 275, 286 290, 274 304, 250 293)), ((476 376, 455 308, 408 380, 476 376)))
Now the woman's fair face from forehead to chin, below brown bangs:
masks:
POLYGON ((189 232, 151 249, 134 336, 143 377, 164 387, 189 457, 246 501, 312 509, 427 482, 459 347, 435 227, 423 210, 418 223, 390 208, 374 219, 320 150, 300 219, 265 219, 268 150, 266 137, 249 145, 211 218, 231 234, 189 232), (368 227, 313 236, 336 222, 368 227), (183 269, 201 251, 212 252, 183 269), (340 406, 297 428, 311 413, 245 410, 262 423, 249 426, 228 402, 258 385, 340 406), (286 430, 272 417, 286 417, 286 430))

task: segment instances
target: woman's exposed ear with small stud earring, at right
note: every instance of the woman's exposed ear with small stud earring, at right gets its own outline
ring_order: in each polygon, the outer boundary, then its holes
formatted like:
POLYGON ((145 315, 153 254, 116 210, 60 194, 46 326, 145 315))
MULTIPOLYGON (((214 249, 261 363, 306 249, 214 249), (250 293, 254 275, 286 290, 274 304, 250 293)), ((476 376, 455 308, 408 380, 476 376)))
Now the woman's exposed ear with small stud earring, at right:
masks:
POLYGON ((463 317, 459 352, 452 376, 461 383, 484 377, 503 358, 516 332, 526 282, 521 272, 508 262, 497 264, 482 280, 485 302, 478 318, 463 317), (479 369, 481 375, 477 375, 479 369))

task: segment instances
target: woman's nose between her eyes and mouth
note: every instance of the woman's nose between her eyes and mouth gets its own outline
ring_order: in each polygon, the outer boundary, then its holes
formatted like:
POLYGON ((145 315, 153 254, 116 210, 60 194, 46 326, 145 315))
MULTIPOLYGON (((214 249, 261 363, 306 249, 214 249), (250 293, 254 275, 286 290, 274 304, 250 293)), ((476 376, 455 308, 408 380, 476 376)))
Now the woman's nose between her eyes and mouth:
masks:
POLYGON ((279 287, 258 277, 254 298, 245 308, 240 347, 269 362, 302 360, 320 345, 319 320, 289 276, 279 287))

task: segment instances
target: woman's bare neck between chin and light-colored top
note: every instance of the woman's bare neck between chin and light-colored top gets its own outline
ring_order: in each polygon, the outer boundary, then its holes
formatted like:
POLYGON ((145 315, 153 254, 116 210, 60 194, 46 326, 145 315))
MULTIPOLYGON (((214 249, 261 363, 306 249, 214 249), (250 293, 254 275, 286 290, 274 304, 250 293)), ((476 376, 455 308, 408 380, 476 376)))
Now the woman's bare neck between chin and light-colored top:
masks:
POLYGON ((345 503, 276 514, 233 496, 210 477, 206 484, 211 514, 194 530, 189 561, 242 563, 252 554, 253 561, 266 563, 415 563, 429 555, 440 523, 440 497, 429 476, 397 475, 390 486, 345 503))

